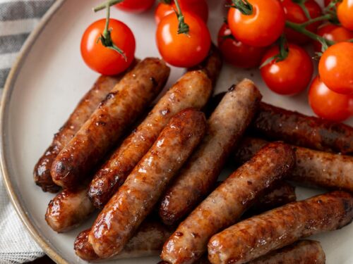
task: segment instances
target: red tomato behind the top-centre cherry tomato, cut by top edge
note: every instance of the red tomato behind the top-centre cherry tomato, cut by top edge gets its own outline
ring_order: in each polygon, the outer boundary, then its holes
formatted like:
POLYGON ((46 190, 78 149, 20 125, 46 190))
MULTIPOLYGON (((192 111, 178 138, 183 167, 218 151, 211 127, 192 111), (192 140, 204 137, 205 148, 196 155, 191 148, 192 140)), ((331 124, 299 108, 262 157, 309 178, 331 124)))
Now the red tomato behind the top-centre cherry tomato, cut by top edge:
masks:
MULTIPOLYGON (((189 12, 198 15, 203 21, 205 21, 205 23, 207 23, 208 4, 205 0, 179 0, 179 6, 183 13, 189 12)), ((164 16, 174 13, 174 10, 177 10, 174 1, 172 4, 158 4, 155 10, 155 22, 157 25, 164 16)))

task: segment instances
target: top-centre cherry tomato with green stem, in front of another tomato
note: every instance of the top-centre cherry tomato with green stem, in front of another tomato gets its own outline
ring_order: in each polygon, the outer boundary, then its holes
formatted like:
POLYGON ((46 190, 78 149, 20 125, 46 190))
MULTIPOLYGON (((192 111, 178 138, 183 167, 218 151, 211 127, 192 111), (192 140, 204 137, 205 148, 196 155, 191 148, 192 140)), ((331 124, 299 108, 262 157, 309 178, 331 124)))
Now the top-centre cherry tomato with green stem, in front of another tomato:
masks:
POLYGON ((177 67, 192 67, 208 55, 211 45, 210 32, 201 18, 184 12, 189 34, 178 34, 175 13, 165 16, 157 26, 156 41, 160 54, 167 63, 177 67))

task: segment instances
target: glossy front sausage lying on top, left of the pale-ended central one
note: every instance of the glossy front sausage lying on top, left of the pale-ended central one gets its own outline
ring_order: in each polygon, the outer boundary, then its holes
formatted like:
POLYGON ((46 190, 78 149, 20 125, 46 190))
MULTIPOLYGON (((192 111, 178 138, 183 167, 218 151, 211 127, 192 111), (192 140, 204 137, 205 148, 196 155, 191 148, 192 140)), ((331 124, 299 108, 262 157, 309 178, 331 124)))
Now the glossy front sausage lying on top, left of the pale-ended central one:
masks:
POLYGON ((205 115, 174 115, 95 220, 88 241, 100 258, 119 253, 205 133, 205 115))

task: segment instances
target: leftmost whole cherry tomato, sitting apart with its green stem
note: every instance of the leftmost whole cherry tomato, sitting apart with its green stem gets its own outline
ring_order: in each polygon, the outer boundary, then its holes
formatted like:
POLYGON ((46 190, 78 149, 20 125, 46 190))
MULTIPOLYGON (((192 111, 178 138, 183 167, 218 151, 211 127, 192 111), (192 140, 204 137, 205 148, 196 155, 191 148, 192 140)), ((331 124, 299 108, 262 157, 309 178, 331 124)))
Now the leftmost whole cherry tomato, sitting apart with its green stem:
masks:
POLYGON ((92 23, 83 33, 80 50, 83 61, 92 70, 102 75, 122 73, 132 63, 135 55, 135 37, 127 25, 116 19, 109 20, 113 43, 124 51, 126 60, 118 52, 108 49, 97 39, 104 31, 105 19, 92 23))

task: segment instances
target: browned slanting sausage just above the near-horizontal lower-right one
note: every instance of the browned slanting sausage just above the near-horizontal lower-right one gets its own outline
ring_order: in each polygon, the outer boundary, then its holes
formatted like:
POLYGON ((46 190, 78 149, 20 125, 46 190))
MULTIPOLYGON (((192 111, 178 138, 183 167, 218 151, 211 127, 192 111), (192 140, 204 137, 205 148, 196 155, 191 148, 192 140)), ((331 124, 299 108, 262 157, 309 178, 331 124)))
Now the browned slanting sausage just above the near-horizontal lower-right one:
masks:
POLYGON ((294 153, 286 144, 263 147, 181 222, 165 242, 162 260, 179 264, 200 258, 207 249, 208 239, 237 222, 265 189, 289 172, 294 160, 294 153))

